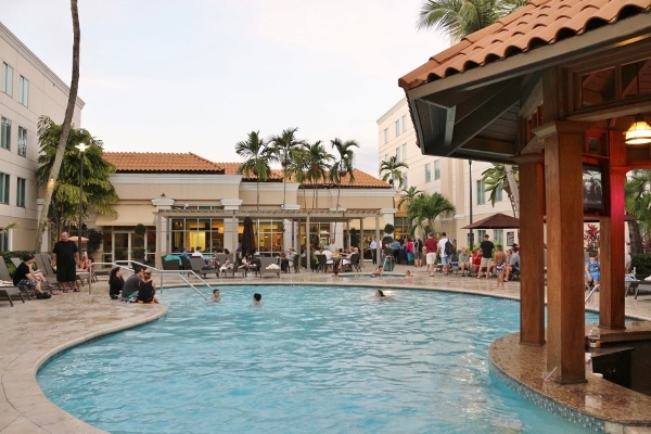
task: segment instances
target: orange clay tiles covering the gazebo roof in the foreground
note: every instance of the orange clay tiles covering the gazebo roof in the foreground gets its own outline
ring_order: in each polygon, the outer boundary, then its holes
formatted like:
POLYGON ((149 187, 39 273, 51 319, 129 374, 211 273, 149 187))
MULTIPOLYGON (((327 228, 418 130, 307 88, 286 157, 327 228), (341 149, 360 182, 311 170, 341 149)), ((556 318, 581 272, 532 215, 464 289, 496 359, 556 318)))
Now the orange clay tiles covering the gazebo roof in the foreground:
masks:
MULTIPOLYGON (((532 0, 430 58, 398 80, 405 90, 616 23, 651 15, 651 0, 532 0)), ((651 16, 649 16, 651 20, 651 16)))

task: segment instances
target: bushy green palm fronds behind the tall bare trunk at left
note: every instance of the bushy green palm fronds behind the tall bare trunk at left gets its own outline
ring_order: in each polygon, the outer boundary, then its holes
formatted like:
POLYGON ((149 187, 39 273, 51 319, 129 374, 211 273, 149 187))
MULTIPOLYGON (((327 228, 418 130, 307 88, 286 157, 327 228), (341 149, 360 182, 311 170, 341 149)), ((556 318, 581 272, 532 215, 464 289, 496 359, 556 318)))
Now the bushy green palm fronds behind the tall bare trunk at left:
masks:
MULTIPOLYGON (((54 124, 48 116, 41 116, 38 123, 38 138, 40 155, 39 168, 36 170, 36 180, 46 186, 50 180, 52 166, 59 154, 59 137, 63 126, 54 124)), ((77 222, 79 216, 78 204, 81 202, 81 212, 90 207, 107 216, 116 216, 112 205, 118 201, 115 188, 108 179, 115 173, 115 167, 103 158, 103 144, 86 129, 71 128, 64 152, 65 165, 62 165, 59 179, 52 190, 52 208, 58 218, 58 224, 69 226, 77 222), (76 149, 78 143, 88 144, 84 153, 76 149), (82 158, 82 159, 81 159, 82 158), (84 164, 84 186, 79 186, 79 171, 84 164), (80 197, 84 192, 82 197, 80 197), (81 199, 81 201, 80 201, 81 199)), ((86 214, 85 213, 85 214, 86 214)), ((85 219, 86 216, 82 218, 85 219)))

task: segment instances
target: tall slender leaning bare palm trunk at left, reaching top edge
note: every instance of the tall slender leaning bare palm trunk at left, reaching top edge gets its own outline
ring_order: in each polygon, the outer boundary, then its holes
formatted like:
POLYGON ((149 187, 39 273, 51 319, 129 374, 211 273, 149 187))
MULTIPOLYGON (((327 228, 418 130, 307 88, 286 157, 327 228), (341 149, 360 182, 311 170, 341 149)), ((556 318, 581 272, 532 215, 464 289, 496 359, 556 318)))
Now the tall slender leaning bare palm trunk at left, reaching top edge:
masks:
MULTIPOLYGON (((63 156, 67 144, 68 133, 73 125, 73 114, 75 112, 75 104, 77 103, 77 91, 79 89, 79 40, 81 39, 81 31, 79 29, 79 12, 77 9, 77 0, 71 0, 71 13, 73 15, 73 77, 71 79, 71 92, 68 93, 68 101, 65 107, 65 115, 63 117, 63 125, 61 128, 61 137, 59 138, 59 148, 56 155, 52 164, 52 169, 48 179, 53 179, 54 182, 59 179, 59 170, 61 170, 61 164, 63 163, 63 156)), ((36 233, 36 245, 35 251, 40 252, 43 242, 43 232, 48 227, 48 215, 50 214, 50 203, 52 202, 52 190, 46 189, 43 197, 43 207, 38 222, 38 230, 36 233)))

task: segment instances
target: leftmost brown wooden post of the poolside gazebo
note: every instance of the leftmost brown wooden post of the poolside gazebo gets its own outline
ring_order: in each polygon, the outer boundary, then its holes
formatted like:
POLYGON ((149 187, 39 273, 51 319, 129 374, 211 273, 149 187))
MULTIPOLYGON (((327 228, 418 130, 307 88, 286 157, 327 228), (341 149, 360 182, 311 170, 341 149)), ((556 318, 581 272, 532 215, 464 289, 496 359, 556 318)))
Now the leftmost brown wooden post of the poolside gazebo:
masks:
POLYGON ((545 344, 545 174, 539 153, 515 158, 520 176, 520 343, 545 344))

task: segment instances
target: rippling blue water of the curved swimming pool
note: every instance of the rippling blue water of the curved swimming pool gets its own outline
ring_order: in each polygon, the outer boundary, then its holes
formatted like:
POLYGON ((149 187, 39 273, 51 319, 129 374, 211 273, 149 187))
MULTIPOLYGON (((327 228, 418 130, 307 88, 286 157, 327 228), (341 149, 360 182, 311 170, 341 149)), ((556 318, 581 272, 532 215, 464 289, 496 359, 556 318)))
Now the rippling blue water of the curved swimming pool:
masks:
POLYGON ((38 381, 112 433, 587 432, 489 374, 487 348, 518 331, 518 302, 386 293, 224 286, 213 303, 165 290, 167 316, 62 353, 38 381), (250 306, 254 292, 264 306, 250 306))

